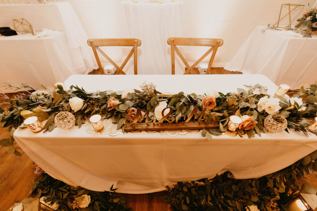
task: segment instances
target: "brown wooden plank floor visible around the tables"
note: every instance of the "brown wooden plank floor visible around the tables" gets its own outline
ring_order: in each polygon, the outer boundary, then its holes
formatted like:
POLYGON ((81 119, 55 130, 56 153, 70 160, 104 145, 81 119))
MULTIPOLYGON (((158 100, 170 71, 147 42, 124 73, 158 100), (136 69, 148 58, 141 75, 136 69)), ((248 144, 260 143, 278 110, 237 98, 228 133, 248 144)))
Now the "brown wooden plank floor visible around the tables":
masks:
MULTIPOLYGON (((240 72, 230 72, 223 68, 212 68, 212 74, 241 74, 240 72)), ((90 74, 99 74, 99 70, 94 70, 90 74)), ((8 94, 9 97, 14 94, 8 94)), ((1 101, 0 101, 1 102, 1 101)), ((6 138, 6 129, 0 129, 0 140, 6 138)), ((22 153, 17 157, 7 153, 6 147, 0 148, 0 211, 6 211, 16 202, 29 197, 30 183, 33 181, 36 164, 17 146, 14 147, 22 153)), ((306 182, 317 187, 317 175, 307 176, 306 182)), ((151 194, 119 194, 126 197, 127 205, 133 210, 165 211, 169 208, 160 200, 162 192, 151 194)))

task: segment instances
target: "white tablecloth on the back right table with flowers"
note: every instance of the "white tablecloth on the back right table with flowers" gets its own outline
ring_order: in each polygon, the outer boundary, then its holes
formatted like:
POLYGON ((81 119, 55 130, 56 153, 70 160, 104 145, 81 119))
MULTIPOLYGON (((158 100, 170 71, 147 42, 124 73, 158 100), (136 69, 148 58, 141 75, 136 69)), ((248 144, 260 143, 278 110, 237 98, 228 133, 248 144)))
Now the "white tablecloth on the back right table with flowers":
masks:
POLYGON ((257 26, 224 67, 243 74, 263 74, 275 84, 299 89, 317 80, 317 36, 302 38, 291 31, 261 30, 257 26), (297 35, 299 37, 293 36, 297 35))

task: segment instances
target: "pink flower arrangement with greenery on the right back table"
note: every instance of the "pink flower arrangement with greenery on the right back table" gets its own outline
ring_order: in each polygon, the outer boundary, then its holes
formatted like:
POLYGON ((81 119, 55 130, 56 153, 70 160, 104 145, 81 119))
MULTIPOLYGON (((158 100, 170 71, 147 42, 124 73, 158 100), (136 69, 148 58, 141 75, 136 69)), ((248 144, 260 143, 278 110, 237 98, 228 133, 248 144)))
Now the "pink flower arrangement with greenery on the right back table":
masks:
POLYGON ((299 29, 304 37, 311 37, 312 33, 317 34, 317 9, 315 7, 304 12, 297 21, 295 28, 299 29))

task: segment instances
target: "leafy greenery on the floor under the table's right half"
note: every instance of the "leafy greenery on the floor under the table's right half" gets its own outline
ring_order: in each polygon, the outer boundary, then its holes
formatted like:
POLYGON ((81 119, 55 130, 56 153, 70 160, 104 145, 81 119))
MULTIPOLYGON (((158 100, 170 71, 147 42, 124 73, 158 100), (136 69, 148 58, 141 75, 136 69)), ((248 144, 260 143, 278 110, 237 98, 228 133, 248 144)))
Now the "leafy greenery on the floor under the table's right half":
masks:
POLYGON ((234 179, 225 172, 212 179, 178 182, 162 199, 172 210, 287 210, 283 204, 300 190, 295 181, 317 171, 317 151, 280 171, 254 179, 234 179), (255 206, 251 206, 255 205, 255 206), (253 209, 246 208, 247 206, 253 209))

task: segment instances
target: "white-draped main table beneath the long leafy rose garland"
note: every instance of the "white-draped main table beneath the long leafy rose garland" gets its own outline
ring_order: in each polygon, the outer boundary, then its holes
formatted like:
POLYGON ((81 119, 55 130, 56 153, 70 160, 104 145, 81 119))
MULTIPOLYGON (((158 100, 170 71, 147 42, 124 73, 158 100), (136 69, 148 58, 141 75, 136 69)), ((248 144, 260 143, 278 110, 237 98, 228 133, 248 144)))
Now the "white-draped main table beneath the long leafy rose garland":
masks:
MULTIPOLYGON (((86 91, 139 89, 143 81, 165 93, 203 94, 215 89, 236 91, 243 84, 277 86, 263 75, 73 75, 66 81, 86 91)), ((177 181, 214 177, 230 171, 235 178, 261 177, 291 165, 317 149, 317 137, 289 130, 262 137, 213 136, 200 133, 177 136, 159 133, 102 135, 85 127, 32 133, 19 128, 14 138, 22 150, 52 177, 70 185, 104 191, 113 184, 120 193, 151 193, 177 181)))

